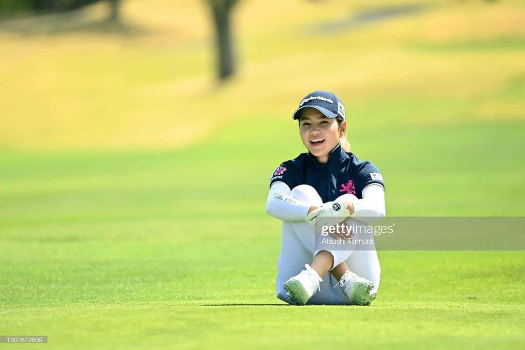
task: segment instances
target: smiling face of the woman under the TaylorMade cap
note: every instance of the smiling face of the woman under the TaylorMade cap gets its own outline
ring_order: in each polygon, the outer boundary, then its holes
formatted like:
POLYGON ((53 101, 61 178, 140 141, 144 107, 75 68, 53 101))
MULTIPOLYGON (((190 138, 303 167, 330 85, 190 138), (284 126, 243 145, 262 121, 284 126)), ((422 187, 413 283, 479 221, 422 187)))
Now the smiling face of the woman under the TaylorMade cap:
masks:
POLYGON ((336 118, 325 117, 315 108, 305 108, 301 113, 299 132, 302 143, 321 163, 328 161, 345 129, 346 121, 340 126, 336 118))

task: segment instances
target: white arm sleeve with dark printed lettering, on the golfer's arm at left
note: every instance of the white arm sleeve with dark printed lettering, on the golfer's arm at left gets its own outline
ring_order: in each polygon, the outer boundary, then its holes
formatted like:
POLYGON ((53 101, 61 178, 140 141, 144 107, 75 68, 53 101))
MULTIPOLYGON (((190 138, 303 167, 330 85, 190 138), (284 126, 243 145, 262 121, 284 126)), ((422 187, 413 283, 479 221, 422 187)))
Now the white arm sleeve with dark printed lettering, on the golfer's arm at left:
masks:
POLYGON ((304 221, 311 205, 291 197, 291 190, 284 182, 274 182, 266 200, 266 212, 283 221, 304 221))

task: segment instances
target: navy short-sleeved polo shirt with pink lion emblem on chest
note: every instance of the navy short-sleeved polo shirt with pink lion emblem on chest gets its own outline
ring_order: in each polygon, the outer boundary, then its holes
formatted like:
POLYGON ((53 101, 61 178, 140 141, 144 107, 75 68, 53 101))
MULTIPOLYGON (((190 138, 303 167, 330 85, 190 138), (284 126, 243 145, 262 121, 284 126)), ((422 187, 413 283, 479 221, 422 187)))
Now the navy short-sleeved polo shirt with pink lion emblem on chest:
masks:
POLYGON ((363 189, 371 183, 379 183, 384 188, 381 172, 374 164, 345 152, 337 145, 328 162, 320 163, 310 152, 301 153, 297 158, 281 163, 270 179, 272 183, 282 181, 293 189, 300 184, 308 184, 317 190, 323 203, 333 201, 345 193, 363 198, 363 189))

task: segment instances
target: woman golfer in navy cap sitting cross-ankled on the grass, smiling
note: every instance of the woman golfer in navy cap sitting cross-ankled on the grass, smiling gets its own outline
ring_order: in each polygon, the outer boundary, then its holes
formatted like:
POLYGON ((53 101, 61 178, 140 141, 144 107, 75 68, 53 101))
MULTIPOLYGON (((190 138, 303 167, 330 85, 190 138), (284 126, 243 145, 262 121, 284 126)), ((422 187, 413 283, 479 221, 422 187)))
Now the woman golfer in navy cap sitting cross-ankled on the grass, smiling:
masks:
POLYGON ((304 97, 293 119, 308 152, 274 171, 266 204, 266 212, 282 220, 277 297, 296 305, 370 305, 381 274, 373 234, 359 235, 369 242, 364 249, 325 238, 349 242, 358 237, 348 228, 385 216, 383 177, 350 152, 344 106, 332 92, 304 97), (346 231, 322 231, 339 223, 346 231))

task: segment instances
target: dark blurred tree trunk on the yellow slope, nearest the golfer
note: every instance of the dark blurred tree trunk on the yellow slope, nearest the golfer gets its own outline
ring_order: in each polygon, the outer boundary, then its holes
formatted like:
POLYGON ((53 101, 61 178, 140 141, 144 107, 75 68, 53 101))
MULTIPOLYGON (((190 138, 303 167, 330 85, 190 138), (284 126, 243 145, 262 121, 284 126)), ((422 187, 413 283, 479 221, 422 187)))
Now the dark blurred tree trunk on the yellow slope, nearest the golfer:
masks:
POLYGON ((218 76, 225 81, 235 73, 236 60, 233 48, 230 17, 237 0, 207 0, 212 9, 215 25, 218 76))

